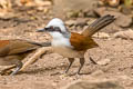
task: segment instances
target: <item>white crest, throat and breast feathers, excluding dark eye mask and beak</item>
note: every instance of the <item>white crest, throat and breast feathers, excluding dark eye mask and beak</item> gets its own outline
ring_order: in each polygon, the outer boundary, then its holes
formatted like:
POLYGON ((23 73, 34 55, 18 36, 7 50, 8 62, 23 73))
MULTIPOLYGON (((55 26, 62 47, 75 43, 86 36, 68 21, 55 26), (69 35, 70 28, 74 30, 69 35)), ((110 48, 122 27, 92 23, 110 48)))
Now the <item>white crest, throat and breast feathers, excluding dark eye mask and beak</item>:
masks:
POLYGON ((70 43, 70 36, 71 33, 66 30, 63 21, 59 18, 54 18, 52 19, 48 24, 47 24, 47 28, 49 27, 59 27, 60 30, 63 32, 55 32, 55 31, 52 31, 52 32, 49 32, 53 40, 52 40, 52 46, 66 46, 66 47, 71 47, 71 43, 70 43))

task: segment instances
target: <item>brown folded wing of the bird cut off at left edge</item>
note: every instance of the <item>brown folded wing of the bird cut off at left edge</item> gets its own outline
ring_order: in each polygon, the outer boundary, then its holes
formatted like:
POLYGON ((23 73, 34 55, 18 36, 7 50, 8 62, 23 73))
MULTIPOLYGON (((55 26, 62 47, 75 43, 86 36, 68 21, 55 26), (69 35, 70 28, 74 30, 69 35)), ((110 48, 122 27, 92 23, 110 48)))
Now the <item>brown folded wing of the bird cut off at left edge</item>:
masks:
POLYGON ((40 46, 25 40, 0 40, 0 56, 22 53, 38 47, 40 46))

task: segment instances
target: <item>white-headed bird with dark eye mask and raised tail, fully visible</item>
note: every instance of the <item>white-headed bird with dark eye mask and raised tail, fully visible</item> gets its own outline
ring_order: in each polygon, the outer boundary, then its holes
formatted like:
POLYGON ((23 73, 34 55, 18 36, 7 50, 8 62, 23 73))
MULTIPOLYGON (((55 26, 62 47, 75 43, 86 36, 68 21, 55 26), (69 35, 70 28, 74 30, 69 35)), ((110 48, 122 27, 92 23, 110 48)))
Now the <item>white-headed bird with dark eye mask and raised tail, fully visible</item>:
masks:
POLYGON ((64 58, 68 58, 69 66, 65 73, 68 73, 75 58, 79 58, 80 68, 76 73, 80 75, 80 71, 85 62, 85 51, 88 49, 99 47, 99 44, 92 39, 92 36, 102 28, 112 23, 114 20, 114 16, 103 16, 91 23, 88 29, 78 33, 69 31, 61 19, 53 18, 44 28, 38 29, 37 32, 48 32, 52 37, 51 47, 53 51, 64 58))

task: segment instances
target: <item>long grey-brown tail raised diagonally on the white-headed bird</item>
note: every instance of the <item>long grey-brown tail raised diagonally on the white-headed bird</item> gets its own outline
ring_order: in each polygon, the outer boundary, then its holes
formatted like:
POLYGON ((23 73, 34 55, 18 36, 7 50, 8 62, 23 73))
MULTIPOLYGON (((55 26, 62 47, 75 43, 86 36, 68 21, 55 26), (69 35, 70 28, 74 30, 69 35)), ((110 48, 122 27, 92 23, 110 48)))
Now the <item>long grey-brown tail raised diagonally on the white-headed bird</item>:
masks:
POLYGON ((91 37, 102 28, 106 27, 108 24, 112 23, 115 20, 114 16, 106 14, 101 17, 100 19, 95 20, 91 23, 81 34, 85 37, 91 37))

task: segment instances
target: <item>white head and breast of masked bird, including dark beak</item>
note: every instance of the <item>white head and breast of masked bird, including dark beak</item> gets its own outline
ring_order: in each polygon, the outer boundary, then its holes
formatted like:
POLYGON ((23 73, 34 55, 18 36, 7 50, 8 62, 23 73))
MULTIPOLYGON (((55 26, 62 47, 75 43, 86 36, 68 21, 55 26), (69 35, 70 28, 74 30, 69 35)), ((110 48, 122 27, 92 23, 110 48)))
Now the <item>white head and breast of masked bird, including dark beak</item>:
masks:
POLYGON ((43 31, 47 31, 52 36, 53 46, 71 46, 71 32, 66 29, 64 22, 61 19, 54 18, 45 26, 44 29, 38 30, 38 32, 43 31))

